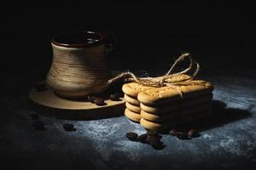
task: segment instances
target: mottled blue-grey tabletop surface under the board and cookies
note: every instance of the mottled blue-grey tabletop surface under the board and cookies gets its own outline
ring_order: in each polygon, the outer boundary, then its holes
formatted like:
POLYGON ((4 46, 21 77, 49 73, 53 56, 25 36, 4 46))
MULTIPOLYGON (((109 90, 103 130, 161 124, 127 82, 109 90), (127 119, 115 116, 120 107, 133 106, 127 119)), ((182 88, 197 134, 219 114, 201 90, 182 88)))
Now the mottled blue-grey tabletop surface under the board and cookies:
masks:
MULTIPOLYGON (((214 59, 212 58, 214 61, 214 59)), ((163 150, 131 142, 125 133, 144 133, 125 116, 94 121, 67 121, 40 116, 45 131, 32 128, 26 93, 38 74, 9 77, 0 97, 2 164, 19 169, 254 169, 256 167, 256 81, 253 75, 206 60, 202 77, 214 86, 212 116, 191 125, 201 137, 180 140, 163 135, 163 150), (17 89, 20 82, 23 86, 17 89), (27 83, 26 83, 27 82, 27 83), (4 93, 10 89, 13 93, 4 93), (62 124, 71 122, 75 132, 62 124)), ((218 59, 216 59, 218 60, 218 59)), ((251 70, 248 70, 251 71, 251 70)))

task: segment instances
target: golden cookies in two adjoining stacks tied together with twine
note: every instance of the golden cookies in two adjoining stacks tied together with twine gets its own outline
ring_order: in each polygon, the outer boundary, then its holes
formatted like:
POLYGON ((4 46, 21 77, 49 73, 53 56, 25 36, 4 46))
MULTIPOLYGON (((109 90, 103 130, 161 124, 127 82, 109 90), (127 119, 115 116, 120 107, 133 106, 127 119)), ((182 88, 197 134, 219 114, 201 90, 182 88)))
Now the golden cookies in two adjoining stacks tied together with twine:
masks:
POLYGON ((152 88, 135 82, 125 84, 125 116, 151 130, 191 122, 211 113, 212 84, 152 88), (182 92, 182 96, 180 94, 182 92))

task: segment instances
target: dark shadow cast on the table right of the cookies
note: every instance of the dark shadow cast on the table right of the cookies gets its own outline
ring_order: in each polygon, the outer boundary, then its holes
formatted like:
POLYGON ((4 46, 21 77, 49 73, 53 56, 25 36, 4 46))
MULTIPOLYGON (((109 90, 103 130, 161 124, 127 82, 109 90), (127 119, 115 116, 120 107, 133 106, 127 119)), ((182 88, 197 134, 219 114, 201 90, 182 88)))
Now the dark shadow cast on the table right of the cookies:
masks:
POLYGON ((181 125, 183 129, 195 128, 198 131, 204 131, 213 127, 220 127, 230 122, 236 122, 251 116, 246 110, 236 108, 226 108, 226 104, 220 100, 212 100, 212 114, 197 120, 195 122, 181 125))

